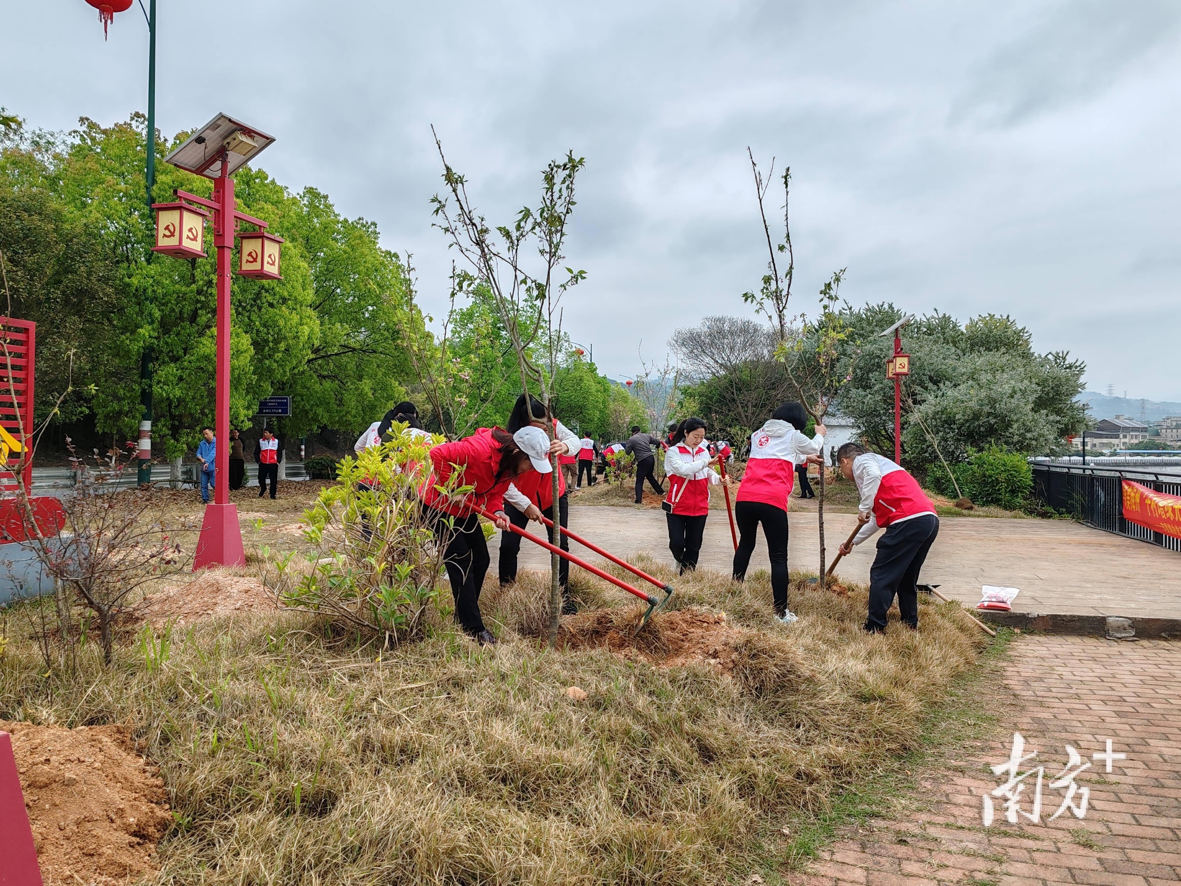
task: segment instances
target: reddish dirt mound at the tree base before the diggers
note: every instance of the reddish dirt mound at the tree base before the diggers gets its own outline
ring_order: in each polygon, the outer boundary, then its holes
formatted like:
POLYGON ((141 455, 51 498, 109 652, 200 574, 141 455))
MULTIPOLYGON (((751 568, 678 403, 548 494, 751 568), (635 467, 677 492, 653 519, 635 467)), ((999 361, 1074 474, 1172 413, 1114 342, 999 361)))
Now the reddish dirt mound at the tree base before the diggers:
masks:
POLYGON ((562 619, 562 649, 606 647, 661 667, 710 662, 724 673, 733 670, 735 641, 743 636, 724 612, 690 608, 663 612, 635 633, 638 610, 593 610, 562 619))

